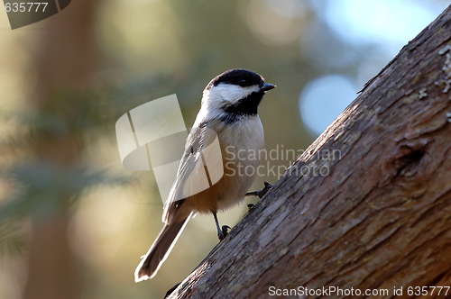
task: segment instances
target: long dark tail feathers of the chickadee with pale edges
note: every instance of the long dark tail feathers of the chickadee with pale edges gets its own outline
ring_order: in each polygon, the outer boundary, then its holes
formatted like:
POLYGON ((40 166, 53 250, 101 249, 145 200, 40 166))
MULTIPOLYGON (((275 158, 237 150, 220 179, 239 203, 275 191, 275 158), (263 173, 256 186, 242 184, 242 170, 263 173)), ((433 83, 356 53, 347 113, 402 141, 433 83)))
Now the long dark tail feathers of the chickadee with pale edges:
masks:
POLYGON ((189 222, 191 215, 192 213, 184 221, 164 224, 151 249, 143 256, 143 259, 134 271, 134 281, 136 283, 152 278, 157 274, 161 264, 168 258, 170 250, 172 250, 181 232, 189 222))

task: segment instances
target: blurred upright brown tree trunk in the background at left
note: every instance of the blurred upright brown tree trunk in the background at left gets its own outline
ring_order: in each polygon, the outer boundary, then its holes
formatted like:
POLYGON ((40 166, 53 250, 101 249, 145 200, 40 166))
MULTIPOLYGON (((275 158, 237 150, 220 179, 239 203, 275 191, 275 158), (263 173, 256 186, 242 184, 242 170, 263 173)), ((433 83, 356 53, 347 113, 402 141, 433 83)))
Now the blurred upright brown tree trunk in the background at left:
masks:
MULTIPOLYGON (((87 89, 92 77, 98 3, 72 1, 60 14, 42 21, 46 28, 33 57, 38 76, 30 104, 43 117, 50 116, 67 126, 63 132, 52 131, 53 127, 40 128, 31 142, 33 158, 58 166, 61 176, 79 163, 83 148, 79 132, 72 126, 82 117, 83 103, 71 99, 70 95, 75 98, 73 95, 87 89)), ((60 186, 55 189, 59 190, 60 186)), ((65 203, 74 195, 61 192, 55 196, 65 203)), ((23 298, 78 298, 77 263, 69 248, 69 211, 62 208, 54 214, 46 212, 44 216, 32 218, 31 252, 23 298)))

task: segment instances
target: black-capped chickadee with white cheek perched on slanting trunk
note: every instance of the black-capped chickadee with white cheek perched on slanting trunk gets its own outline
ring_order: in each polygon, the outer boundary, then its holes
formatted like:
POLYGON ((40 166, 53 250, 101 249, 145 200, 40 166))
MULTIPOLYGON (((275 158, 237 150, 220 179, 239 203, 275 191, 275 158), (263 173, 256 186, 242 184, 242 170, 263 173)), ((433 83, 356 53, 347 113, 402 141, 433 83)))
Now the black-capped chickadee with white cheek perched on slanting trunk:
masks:
POLYGON ((157 274, 193 215, 213 214, 218 239, 226 237, 230 227, 221 228, 216 213, 239 204, 245 195, 256 194, 246 191, 256 175, 248 170, 259 164, 255 153, 264 149, 258 107, 274 87, 244 68, 226 70, 207 84, 163 206, 164 226, 136 267, 136 283, 157 274))

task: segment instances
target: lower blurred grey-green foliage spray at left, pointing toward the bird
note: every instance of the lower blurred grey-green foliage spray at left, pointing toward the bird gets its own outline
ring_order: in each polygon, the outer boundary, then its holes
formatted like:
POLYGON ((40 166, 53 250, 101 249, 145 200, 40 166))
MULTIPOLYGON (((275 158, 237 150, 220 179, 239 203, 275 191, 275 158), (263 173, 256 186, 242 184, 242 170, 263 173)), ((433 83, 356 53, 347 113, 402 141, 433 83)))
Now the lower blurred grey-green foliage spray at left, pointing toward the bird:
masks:
POLYGON ((0 205, 0 218, 27 215, 49 216, 68 208, 88 188, 99 185, 125 185, 133 178, 92 168, 64 168, 44 161, 15 164, 5 173, 13 179, 14 194, 0 205))

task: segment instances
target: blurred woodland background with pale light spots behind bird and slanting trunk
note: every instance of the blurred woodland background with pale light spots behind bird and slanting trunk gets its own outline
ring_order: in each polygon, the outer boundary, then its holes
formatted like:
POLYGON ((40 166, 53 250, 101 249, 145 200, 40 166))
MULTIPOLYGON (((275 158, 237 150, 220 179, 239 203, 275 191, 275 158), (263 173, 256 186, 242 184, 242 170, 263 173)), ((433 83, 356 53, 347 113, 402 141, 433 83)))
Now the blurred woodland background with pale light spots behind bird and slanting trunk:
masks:
MULTIPOLYGON (((0 8, 0 298, 161 298, 216 245, 213 217, 189 222, 158 275, 135 284, 162 203, 152 171, 122 167, 116 120, 176 94, 189 128, 208 81, 249 68, 278 86, 260 106, 266 148, 299 156, 447 5, 74 0, 14 31, 0 8)), ((253 189, 294 159, 263 160, 253 189)))

